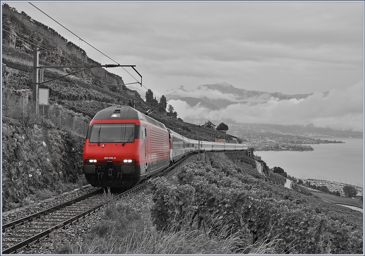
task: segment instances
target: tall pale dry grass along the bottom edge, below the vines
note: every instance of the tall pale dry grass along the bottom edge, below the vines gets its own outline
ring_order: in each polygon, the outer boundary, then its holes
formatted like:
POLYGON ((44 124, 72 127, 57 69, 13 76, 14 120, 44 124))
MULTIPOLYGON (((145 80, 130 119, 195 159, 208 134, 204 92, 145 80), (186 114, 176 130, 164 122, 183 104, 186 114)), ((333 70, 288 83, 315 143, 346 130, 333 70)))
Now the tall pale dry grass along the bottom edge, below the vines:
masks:
POLYGON ((131 235, 121 238, 117 230, 110 235, 95 236, 73 247, 76 254, 273 254, 278 253, 279 240, 262 240, 247 245, 247 235, 231 234, 228 226, 216 233, 213 230, 197 230, 189 226, 169 231, 156 231, 151 222, 142 230, 133 229, 131 235))

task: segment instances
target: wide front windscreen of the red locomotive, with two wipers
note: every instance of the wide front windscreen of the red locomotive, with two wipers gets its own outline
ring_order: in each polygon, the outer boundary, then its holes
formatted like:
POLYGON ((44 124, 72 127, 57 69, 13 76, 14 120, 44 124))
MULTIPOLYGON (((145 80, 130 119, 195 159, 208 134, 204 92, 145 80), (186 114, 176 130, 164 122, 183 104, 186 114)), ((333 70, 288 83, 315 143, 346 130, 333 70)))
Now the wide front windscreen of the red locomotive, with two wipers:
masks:
POLYGON ((135 124, 93 124, 90 136, 90 143, 133 143, 135 124))

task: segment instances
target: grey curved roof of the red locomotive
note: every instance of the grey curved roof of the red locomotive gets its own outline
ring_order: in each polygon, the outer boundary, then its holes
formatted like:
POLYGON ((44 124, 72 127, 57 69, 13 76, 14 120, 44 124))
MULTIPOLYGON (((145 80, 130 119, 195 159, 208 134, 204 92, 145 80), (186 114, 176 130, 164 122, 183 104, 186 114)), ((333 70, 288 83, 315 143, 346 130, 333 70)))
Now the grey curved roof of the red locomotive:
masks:
POLYGON ((164 124, 130 106, 110 106, 97 112, 92 121, 95 120, 141 120, 166 130, 164 124), (113 114, 119 114, 119 116, 111 117, 113 114))

